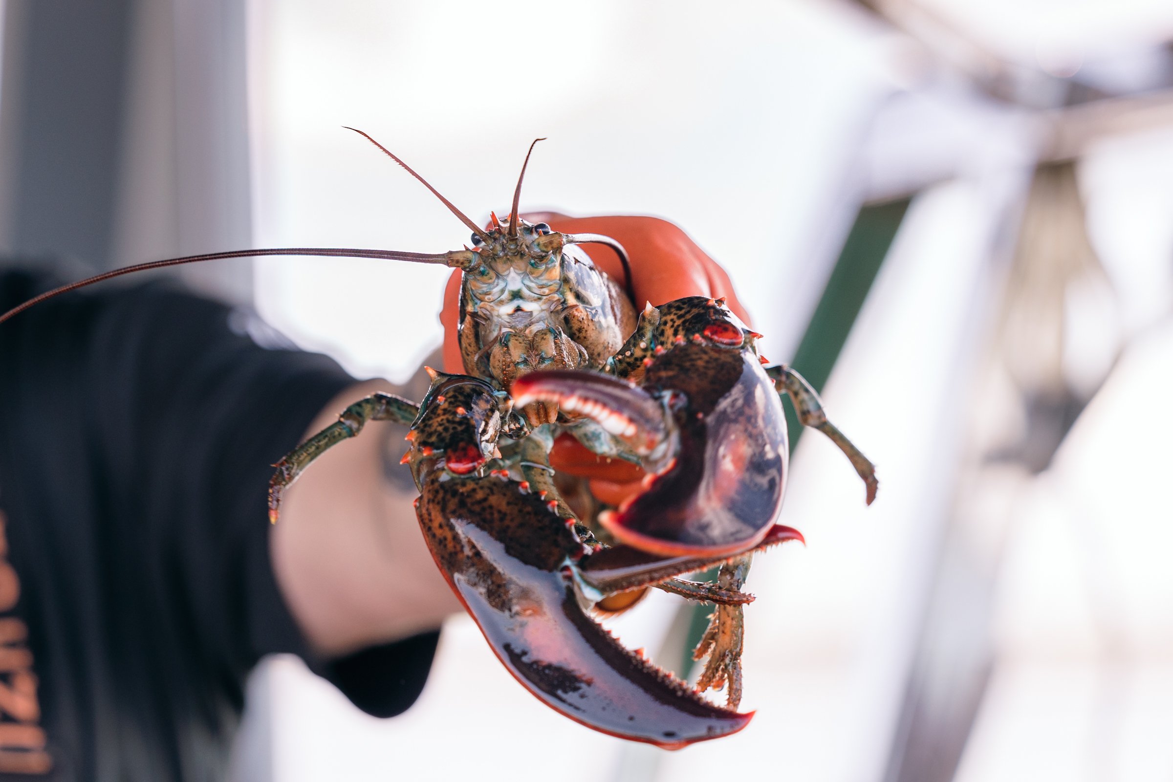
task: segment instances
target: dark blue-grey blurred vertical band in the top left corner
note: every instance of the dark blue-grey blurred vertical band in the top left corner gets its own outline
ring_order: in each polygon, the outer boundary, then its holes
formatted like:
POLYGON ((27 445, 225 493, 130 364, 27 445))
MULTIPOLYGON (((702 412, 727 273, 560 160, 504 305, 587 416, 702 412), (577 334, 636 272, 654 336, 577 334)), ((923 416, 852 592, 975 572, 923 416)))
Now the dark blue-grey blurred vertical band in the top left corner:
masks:
POLYGON ((110 264, 128 0, 8 0, 0 247, 110 264))

